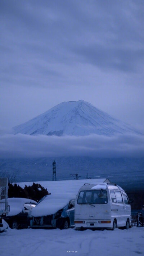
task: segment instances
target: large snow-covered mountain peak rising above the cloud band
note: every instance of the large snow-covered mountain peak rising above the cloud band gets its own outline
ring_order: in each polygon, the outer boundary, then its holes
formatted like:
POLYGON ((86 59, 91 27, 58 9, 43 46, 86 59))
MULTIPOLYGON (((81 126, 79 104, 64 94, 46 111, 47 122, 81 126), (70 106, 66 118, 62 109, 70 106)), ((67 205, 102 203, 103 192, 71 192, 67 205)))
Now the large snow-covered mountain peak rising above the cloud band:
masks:
POLYGON ((109 116, 84 100, 62 102, 13 129, 15 134, 29 135, 140 134, 130 125, 109 116))

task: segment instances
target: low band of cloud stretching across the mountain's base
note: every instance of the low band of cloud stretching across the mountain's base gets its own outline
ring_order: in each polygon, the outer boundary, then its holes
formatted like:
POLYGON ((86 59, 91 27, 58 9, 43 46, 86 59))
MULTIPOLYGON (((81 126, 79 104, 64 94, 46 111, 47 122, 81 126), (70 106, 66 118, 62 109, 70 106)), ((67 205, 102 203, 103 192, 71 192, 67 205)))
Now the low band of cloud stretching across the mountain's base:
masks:
POLYGON ((61 156, 144 157, 144 136, 0 135, 0 158, 61 156))

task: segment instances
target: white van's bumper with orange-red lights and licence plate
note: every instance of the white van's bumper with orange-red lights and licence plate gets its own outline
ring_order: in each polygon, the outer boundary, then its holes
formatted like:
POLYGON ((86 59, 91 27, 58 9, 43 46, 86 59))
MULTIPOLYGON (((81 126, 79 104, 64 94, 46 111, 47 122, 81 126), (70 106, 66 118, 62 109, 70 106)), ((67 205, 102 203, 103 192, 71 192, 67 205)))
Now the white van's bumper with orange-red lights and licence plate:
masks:
POLYGON ((75 228, 112 228, 111 220, 75 220, 75 228))

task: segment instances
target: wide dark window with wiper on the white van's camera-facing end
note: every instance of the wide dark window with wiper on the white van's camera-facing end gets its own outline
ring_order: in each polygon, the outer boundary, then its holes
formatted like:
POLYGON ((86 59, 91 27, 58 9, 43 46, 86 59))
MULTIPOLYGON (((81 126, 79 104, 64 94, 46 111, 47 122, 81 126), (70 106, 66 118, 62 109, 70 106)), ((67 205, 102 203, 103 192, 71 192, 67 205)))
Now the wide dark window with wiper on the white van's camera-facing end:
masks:
POLYGON ((83 190, 79 193, 78 205, 86 204, 105 204, 108 202, 106 190, 83 190))

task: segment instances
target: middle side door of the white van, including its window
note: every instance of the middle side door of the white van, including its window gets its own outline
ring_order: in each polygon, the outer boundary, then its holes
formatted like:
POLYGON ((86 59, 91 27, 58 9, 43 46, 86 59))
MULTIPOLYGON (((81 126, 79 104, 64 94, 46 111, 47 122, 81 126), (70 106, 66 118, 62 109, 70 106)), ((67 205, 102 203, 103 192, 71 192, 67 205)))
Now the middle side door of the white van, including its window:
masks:
POLYGON ((118 217, 118 226, 125 226, 125 208, 123 204, 121 191, 115 190, 116 200, 117 200, 117 217, 118 217))

